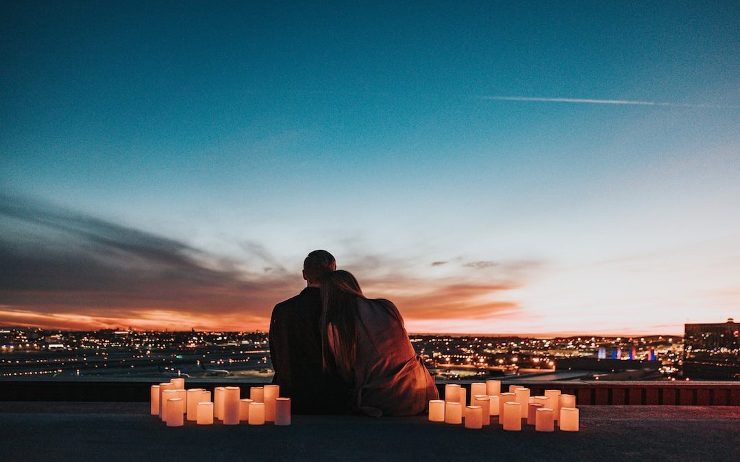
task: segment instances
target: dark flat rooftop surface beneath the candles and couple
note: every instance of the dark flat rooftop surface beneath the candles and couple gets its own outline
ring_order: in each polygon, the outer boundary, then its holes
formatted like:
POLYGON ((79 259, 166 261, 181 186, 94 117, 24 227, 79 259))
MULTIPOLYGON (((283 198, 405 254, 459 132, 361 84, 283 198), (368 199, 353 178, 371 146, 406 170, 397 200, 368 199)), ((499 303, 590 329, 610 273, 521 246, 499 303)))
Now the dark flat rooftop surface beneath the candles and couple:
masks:
POLYGON ((416 417, 294 415, 289 427, 166 427, 136 402, 0 401, 8 461, 737 461, 740 407, 583 406, 577 433, 416 417))

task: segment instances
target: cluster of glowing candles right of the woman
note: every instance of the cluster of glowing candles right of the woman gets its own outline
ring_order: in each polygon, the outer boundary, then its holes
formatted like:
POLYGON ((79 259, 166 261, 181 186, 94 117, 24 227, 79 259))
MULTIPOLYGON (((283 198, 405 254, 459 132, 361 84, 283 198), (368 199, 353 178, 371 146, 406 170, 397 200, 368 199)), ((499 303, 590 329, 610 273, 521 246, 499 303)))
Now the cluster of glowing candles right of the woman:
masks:
POLYGON ((552 432, 555 421, 567 432, 579 430, 579 410, 575 395, 565 395, 560 390, 545 390, 544 396, 530 396, 526 387, 511 385, 508 393, 501 393, 501 381, 488 380, 471 384, 471 405, 467 406, 467 390, 459 384, 445 385, 445 399, 429 401, 429 420, 462 424, 480 429, 491 424, 497 416, 503 429, 522 429, 522 419, 534 425, 539 432, 552 432))

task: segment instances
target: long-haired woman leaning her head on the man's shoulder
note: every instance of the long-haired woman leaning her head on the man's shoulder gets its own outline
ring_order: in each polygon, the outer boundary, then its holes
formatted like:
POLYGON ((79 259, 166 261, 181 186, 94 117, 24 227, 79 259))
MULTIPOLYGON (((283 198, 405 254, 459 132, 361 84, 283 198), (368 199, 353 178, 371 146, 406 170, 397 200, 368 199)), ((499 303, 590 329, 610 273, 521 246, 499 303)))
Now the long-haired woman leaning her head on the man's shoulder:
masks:
POLYGON ((393 303, 367 299, 347 271, 327 276, 321 302, 324 367, 350 384, 351 410, 414 415, 439 397, 393 303))

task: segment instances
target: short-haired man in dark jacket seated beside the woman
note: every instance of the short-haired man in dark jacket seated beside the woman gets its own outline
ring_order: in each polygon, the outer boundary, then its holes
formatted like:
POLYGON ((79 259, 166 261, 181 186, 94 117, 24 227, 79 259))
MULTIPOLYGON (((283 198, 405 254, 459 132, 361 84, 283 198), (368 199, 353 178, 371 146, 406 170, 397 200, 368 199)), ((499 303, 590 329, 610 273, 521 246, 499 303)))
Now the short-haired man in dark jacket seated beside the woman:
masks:
POLYGON ((337 269, 327 251, 312 251, 303 260, 306 288, 280 302, 270 320, 270 356, 280 395, 291 398, 292 412, 322 414, 343 412, 349 385, 325 373, 321 355, 321 280, 337 269))

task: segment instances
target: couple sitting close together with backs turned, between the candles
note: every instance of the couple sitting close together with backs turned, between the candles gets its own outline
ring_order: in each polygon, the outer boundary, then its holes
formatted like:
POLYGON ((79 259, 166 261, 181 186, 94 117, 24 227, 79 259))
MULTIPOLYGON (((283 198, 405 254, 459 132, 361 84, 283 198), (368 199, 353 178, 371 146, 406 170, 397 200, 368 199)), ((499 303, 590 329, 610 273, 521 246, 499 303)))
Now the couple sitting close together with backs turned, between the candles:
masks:
POLYGON ((273 383, 293 412, 414 415, 437 387, 411 347, 393 303, 367 299, 327 251, 303 261, 307 287, 275 305, 270 321, 273 383))

